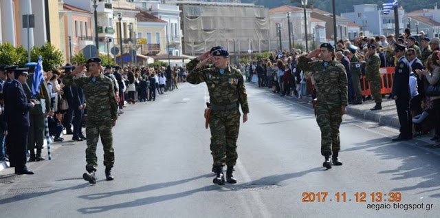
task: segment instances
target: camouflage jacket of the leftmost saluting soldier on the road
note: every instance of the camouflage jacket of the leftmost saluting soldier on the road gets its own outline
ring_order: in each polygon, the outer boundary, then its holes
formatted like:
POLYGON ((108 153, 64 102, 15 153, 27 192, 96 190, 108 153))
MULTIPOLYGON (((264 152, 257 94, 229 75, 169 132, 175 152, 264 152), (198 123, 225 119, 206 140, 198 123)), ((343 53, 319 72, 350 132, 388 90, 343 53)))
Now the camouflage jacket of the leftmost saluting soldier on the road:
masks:
POLYGON ((67 86, 80 87, 84 90, 87 102, 87 116, 91 119, 118 119, 118 105, 115 99, 113 81, 111 78, 99 74, 94 81, 93 78, 74 78, 73 75, 65 76, 63 83, 67 86))

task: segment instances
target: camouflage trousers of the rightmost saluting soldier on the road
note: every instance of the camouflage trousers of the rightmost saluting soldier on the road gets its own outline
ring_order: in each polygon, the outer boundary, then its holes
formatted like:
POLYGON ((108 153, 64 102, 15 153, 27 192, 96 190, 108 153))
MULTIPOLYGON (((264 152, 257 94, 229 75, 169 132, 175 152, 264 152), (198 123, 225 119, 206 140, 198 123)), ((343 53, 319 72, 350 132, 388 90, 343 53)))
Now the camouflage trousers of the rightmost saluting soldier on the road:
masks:
POLYGON ((321 129, 321 154, 330 156, 341 149, 339 126, 342 122, 341 106, 328 106, 318 101, 316 122, 321 129))

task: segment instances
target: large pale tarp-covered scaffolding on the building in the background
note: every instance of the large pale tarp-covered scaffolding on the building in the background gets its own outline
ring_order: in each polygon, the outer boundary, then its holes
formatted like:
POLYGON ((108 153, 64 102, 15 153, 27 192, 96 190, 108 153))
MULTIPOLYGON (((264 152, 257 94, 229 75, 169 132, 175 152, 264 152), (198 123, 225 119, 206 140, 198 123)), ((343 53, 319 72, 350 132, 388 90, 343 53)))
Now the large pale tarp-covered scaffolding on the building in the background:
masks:
POLYGON ((230 54, 270 50, 267 8, 240 3, 181 3, 179 6, 184 54, 203 54, 217 45, 225 47, 230 54))

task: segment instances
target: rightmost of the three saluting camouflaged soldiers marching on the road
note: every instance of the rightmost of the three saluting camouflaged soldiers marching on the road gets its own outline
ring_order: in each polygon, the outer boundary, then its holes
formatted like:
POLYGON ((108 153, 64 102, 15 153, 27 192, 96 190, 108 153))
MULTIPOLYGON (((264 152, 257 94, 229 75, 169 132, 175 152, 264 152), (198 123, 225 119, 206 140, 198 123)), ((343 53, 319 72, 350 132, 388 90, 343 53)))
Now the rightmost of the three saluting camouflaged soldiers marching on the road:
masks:
POLYGON ((339 160, 339 127, 342 115, 347 112, 347 73, 344 65, 335 60, 335 49, 329 43, 322 43, 320 49, 308 56, 298 58, 298 67, 313 76, 318 98, 316 122, 321 130, 321 154, 325 157, 322 166, 331 168, 342 165, 339 160), (320 61, 311 61, 318 57, 320 61), (330 157, 331 155, 331 157, 330 157))

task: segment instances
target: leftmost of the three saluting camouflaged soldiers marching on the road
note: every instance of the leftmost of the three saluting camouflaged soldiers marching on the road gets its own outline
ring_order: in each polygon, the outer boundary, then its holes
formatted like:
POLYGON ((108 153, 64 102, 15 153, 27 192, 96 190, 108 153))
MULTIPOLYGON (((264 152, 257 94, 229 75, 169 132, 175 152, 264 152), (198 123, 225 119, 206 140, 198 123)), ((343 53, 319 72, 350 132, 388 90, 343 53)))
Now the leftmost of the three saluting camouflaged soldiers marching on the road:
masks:
POLYGON ((104 148, 106 179, 114 179, 113 175, 111 175, 111 168, 115 162, 111 128, 115 126, 116 119, 118 119, 118 104, 115 100, 113 81, 111 78, 101 74, 100 58, 90 58, 87 64, 89 65, 90 77, 74 77, 75 74, 85 69, 83 64, 76 67, 68 76, 65 76, 63 83, 84 89, 87 102, 87 149, 85 151, 87 162, 85 168, 87 173, 84 173, 83 178, 94 184, 96 183, 95 171, 98 168, 96 145, 98 144, 99 135, 101 135, 101 142, 104 148))

